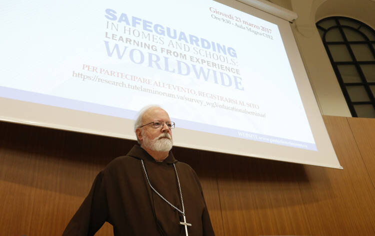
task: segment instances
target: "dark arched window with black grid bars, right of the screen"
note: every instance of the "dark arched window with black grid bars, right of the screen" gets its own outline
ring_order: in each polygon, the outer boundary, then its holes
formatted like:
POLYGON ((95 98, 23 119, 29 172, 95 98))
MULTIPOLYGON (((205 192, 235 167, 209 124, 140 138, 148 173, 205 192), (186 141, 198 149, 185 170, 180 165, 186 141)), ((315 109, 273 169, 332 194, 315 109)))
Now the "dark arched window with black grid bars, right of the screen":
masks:
POLYGON ((353 117, 375 118, 375 31, 346 17, 316 23, 353 117))

